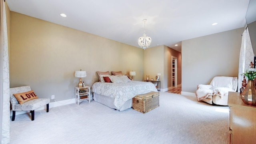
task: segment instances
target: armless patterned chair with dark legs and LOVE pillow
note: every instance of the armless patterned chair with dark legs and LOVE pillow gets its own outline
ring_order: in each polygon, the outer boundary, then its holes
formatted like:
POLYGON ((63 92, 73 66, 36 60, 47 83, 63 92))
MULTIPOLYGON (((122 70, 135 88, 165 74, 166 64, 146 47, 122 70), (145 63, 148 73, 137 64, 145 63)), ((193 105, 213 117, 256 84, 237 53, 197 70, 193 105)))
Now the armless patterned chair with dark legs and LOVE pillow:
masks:
POLYGON ((35 109, 46 105, 49 112, 49 98, 38 98, 30 86, 10 88, 10 102, 12 104, 12 121, 15 120, 16 111, 30 111, 31 120, 34 120, 35 109))

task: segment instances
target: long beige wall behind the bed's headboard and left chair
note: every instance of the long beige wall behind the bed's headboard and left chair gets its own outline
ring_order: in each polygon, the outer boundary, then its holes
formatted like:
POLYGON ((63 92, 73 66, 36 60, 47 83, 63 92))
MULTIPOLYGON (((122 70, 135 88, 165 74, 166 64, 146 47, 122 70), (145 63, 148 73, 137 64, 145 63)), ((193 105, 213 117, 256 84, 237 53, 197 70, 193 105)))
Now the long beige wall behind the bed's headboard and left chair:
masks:
POLYGON ((141 48, 10 12, 10 87, 30 85, 40 98, 74 98, 78 78, 85 70, 86 85, 98 81, 96 71, 136 71, 143 80, 141 48))

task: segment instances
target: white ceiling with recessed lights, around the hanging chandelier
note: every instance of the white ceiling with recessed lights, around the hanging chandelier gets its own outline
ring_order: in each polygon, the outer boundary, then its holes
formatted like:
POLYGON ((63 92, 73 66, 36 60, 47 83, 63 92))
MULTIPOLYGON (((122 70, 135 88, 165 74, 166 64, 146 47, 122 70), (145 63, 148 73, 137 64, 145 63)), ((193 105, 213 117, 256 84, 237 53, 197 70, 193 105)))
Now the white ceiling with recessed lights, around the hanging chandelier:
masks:
POLYGON ((249 0, 6 0, 11 11, 138 46, 181 52, 181 41, 244 27, 249 0), (60 16, 65 13, 66 18, 60 16), (216 26, 212 23, 218 22, 216 26), (178 44, 178 46, 174 46, 178 44))

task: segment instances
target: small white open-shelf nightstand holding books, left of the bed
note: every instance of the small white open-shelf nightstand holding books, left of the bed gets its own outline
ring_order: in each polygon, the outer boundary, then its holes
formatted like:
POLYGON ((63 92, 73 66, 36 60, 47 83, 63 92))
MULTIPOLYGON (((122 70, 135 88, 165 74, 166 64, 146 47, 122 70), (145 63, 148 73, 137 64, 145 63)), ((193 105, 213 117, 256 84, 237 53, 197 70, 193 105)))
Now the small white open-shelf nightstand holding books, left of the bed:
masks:
POLYGON ((82 88, 75 87, 76 104, 79 106, 79 102, 87 100, 90 103, 90 86, 82 88))

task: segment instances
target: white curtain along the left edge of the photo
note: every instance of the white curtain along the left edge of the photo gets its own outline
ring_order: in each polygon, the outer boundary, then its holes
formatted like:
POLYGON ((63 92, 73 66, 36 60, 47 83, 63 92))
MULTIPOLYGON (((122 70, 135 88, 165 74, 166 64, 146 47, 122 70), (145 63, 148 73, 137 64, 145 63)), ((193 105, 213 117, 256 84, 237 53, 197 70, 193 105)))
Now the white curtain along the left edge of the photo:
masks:
POLYGON ((4 0, 0 2, 0 124, 1 144, 10 143, 10 81, 4 0))

